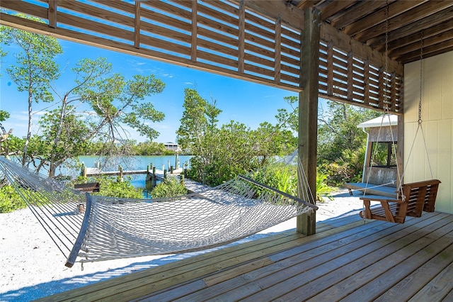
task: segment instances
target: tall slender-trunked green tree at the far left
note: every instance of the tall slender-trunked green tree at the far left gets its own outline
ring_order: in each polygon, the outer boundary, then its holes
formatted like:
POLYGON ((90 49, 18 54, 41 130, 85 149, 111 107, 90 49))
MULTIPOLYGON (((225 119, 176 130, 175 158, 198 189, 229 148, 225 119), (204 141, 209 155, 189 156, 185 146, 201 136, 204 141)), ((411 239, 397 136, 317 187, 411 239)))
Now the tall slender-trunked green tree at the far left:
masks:
MULTIPOLYGON (((33 20, 40 22, 37 18, 33 20)), ((8 26, 0 27, 0 40, 6 45, 18 45, 21 50, 15 54, 16 65, 6 68, 6 73, 16 83, 18 91, 28 94, 28 130, 22 156, 22 165, 25 165, 32 131, 33 102, 53 101, 50 83, 59 77, 55 57, 62 53, 62 47, 56 38, 8 26)))

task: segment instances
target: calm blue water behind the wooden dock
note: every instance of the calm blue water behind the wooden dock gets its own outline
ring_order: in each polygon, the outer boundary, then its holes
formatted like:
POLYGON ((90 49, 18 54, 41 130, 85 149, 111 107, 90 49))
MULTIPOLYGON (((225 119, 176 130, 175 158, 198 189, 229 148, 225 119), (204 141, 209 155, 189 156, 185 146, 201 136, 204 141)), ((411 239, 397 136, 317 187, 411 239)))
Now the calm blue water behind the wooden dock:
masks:
MULTIPOLYGON (((103 171, 117 171, 118 166, 121 165, 123 170, 146 170, 147 167, 151 167, 151 164, 156 169, 167 169, 173 166, 173 168, 182 168, 183 164, 188 163, 191 155, 178 155, 178 163, 176 162, 176 155, 152 155, 152 156, 134 156, 134 157, 115 157, 105 162, 105 158, 98 156, 81 156, 79 157, 80 162, 84 162, 86 167, 101 167, 103 171)), ((71 176, 80 174, 80 171, 71 171, 71 176)), ((136 188, 144 188, 144 181, 147 177, 145 174, 131 175, 132 185, 136 188)))

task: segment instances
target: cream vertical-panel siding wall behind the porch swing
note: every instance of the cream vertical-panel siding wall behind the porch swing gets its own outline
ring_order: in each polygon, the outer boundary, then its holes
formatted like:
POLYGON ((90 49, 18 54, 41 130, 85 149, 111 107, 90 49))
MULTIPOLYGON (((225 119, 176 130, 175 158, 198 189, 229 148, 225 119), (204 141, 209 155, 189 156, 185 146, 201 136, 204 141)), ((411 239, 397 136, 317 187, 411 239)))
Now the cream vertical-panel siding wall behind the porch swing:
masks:
POLYGON ((423 60, 422 128, 426 149, 420 130, 414 140, 420 61, 407 64, 404 74, 404 182, 440 179, 436 211, 453 214, 453 52, 423 60))

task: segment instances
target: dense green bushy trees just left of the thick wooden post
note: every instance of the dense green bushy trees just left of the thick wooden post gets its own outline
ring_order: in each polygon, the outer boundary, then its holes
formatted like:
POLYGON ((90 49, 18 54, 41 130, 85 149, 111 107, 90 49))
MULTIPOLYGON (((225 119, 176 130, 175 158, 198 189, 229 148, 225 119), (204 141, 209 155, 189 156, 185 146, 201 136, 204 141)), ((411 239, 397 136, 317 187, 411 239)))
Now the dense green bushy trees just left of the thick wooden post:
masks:
POLYGON ((222 184, 297 146, 287 111, 279 112, 275 125, 264 122, 256 130, 236 121, 218 125, 220 113, 215 101, 208 102, 195 89, 185 89, 183 118, 177 133, 183 150, 195 155, 190 160, 191 179, 205 180, 213 186, 222 184))

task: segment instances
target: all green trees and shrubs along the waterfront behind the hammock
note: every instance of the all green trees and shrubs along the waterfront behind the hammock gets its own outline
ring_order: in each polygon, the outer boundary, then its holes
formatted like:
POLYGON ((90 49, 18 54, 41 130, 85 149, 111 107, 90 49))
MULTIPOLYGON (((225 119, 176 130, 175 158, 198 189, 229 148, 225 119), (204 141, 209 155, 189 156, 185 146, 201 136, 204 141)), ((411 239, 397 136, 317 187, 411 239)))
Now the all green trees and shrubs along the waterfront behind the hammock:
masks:
MULTIPOLYGON (((159 133, 151 125, 164 121, 165 116, 145 99, 161 93, 165 84, 153 74, 137 74, 126 79, 114 73, 105 58, 84 59, 72 66, 74 82, 62 85, 67 89, 62 92, 57 89, 62 73, 55 60, 62 53, 57 39, 0 26, 0 41, 17 46, 18 52, 14 54, 0 48, 0 56, 16 60, 14 65, 6 67, 6 73, 18 91, 24 92, 29 116, 27 135, 24 138, 11 135, 0 142, 2 154, 15 155, 24 167, 36 172, 45 170, 49 177, 55 177, 58 167, 71 160, 77 164, 81 155, 108 158, 172 153, 165 150, 164 144, 154 142, 159 133), (40 116, 40 132, 33 134, 33 104, 39 102, 53 109, 40 116), (136 130, 147 141, 130 140, 125 126, 136 130)), ((216 186, 238 174, 256 172, 259 181, 297 195, 296 172, 275 165, 275 158, 297 149, 299 100, 288 96, 284 101, 289 110, 281 108, 275 113, 275 121, 263 121, 258 128, 251 129, 237 121, 219 125, 222 109, 217 107, 217 101, 203 99, 196 89, 185 89, 183 117, 176 134, 185 154, 193 155, 188 178, 216 186), (263 173, 266 169, 269 172, 263 173)), ((378 115, 336 102, 327 102, 326 108, 320 108, 316 181, 319 201, 329 196, 332 186, 360 179, 366 135, 357 129, 357 124, 378 115)), ((9 116, 8 112, 0 111, 0 122, 9 116)), ((134 189, 128 179, 77 181, 100 182, 99 194, 105 196, 142 197, 141 190, 134 189)), ((183 194, 179 186, 177 181, 166 179, 151 195, 183 194)), ((23 207, 19 200, 7 184, 2 186, 1 212, 23 207)))

